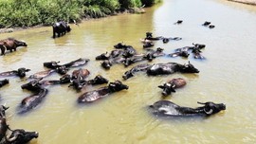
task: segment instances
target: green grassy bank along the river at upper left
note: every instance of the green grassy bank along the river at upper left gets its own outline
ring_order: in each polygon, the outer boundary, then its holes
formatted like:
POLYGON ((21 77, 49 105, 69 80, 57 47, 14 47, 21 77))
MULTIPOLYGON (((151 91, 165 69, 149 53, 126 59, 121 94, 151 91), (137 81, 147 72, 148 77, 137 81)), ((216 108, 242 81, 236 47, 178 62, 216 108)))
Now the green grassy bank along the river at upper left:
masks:
MULTIPOLYGON (((0 0, 0 28, 49 26, 59 20, 100 18, 160 0, 0 0)), ((133 11, 133 10, 131 10, 133 11)))

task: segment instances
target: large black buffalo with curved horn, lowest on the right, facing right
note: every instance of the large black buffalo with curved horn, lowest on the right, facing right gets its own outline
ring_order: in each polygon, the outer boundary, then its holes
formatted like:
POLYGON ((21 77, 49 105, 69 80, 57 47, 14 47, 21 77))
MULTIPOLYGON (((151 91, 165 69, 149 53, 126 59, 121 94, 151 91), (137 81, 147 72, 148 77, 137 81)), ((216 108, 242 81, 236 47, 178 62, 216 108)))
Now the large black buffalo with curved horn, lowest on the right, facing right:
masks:
POLYGON ((190 108, 179 106, 169 100, 159 100, 156 101, 153 105, 150 105, 150 110, 155 116, 159 117, 209 117, 213 114, 219 113, 222 110, 226 110, 226 105, 223 103, 197 103, 203 104, 203 106, 190 108))

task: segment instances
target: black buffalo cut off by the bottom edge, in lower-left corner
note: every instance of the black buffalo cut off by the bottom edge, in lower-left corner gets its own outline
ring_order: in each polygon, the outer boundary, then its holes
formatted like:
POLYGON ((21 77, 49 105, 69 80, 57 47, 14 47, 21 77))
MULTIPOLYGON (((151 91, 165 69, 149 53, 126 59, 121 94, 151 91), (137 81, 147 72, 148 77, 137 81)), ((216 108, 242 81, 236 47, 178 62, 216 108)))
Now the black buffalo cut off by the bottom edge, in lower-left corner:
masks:
POLYGON ((6 137, 6 144, 27 144, 33 138, 38 137, 37 132, 26 132, 23 129, 10 130, 11 134, 6 137))

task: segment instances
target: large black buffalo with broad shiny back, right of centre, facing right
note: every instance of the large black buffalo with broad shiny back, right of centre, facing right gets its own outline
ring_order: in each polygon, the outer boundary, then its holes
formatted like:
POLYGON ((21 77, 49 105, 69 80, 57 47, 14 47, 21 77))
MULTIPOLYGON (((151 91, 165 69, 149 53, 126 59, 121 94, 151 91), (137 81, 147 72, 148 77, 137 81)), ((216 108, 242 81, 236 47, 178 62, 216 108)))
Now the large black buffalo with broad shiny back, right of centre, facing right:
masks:
POLYGON ((181 73, 199 73, 192 63, 179 64, 179 63, 155 63, 147 69, 147 74, 150 76, 167 75, 175 72, 181 73))

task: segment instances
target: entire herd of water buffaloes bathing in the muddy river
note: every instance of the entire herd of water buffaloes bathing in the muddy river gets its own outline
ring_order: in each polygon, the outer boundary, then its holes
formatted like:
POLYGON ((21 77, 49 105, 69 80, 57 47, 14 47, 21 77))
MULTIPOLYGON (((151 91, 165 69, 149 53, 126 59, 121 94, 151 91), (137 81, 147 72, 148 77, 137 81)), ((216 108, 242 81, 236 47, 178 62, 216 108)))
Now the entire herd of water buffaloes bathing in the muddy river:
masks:
MULTIPOLYGON (((178 20, 174 25, 182 24, 182 20, 178 20)), ((210 22, 205 22, 202 26, 213 28, 213 25, 210 25, 210 22)), ((57 22, 53 26, 53 38, 64 36, 66 32, 69 32, 71 28, 64 21, 57 22)), ((199 70, 190 63, 149 63, 158 57, 183 57, 188 59, 190 53, 193 54, 194 59, 205 60, 205 57, 201 54, 202 49, 206 45, 201 44, 192 44, 189 46, 184 46, 181 48, 174 49, 173 53, 164 53, 164 49, 154 47, 155 41, 162 41, 163 44, 168 43, 169 41, 180 41, 182 38, 179 37, 163 37, 157 36, 154 37, 152 32, 146 32, 146 37, 141 39, 142 47, 145 50, 144 53, 137 53, 137 49, 132 45, 125 45, 124 43, 118 43, 114 45, 112 51, 107 51, 97 55, 95 57, 96 61, 101 61, 101 67, 105 70, 110 70, 111 66, 115 64, 123 64, 125 67, 130 66, 131 64, 136 65, 132 66, 130 70, 126 71, 122 75, 123 81, 128 81, 132 77, 135 77, 138 72, 144 72, 148 76, 159 76, 159 75, 171 75, 174 73, 199 73, 199 70), (139 63, 144 62, 144 63, 139 63)), ((27 46, 25 42, 18 41, 14 38, 7 38, 0 41, 0 48, 2 55, 5 55, 6 51, 12 50, 16 51, 18 46, 27 46)), ((122 81, 116 80, 109 82, 106 78, 103 78, 101 75, 97 75, 94 79, 88 80, 88 76, 91 75, 91 72, 82 68, 83 65, 89 63, 90 60, 86 58, 79 58, 69 63, 60 64, 60 62, 49 61, 43 63, 44 67, 47 70, 36 72, 32 75, 29 75, 26 79, 29 80, 27 83, 21 85, 22 89, 26 89, 31 92, 30 96, 22 99, 20 105, 18 106, 18 114, 22 115, 31 111, 36 106, 38 106, 48 95, 48 85, 56 84, 67 84, 68 87, 73 88, 76 91, 81 91, 86 85, 97 85, 97 84, 107 84, 96 90, 86 91, 81 96, 78 97, 77 102, 79 104, 91 103, 95 100, 105 98, 112 93, 119 92, 121 90, 128 90, 129 86, 124 84, 122 81), (67 74, 69 70, 72 70, 71 74, 67 74), (60 74, 59 80, 44 80, 49 75, 60 74)), ((26 77, 26 73, 30 69, 25 67, 18 68, 17 70, 11 70, 6 72, 0 72, 0 78, 6 77, 19 77, 21 79, 26 77)), ((9 84, 8 79, 0 81, 0 87, 9 84)), ((162 89, 162 96, 167 97, 174 93, 176 89, 184 87, 187 84, 182 78, 176 78, 172 80, 167 80, 162 85, 158 85, 158 88, 162 89)), ((213 114, 216 114, 222 110, 226 110, 226 105, 223 103, 214 103, 211 101, 208 102, 198 102, 201 104, 201 107, 190 108, 179 106, 172 101, 160 99, 154 104, 149 105, 149 112, 155 116, 161 117, 209 117, 213 114)), ((36 132, 26 132, 23 129, 11 130, 9 125, 6 122, 5 111, 8 107, 4 105, 0 106, 0 141, 7 144, 14 143, 27 143, 33 138, 38 137, 36 132), (10 135, 7 136, 8 132, 10 135)))

